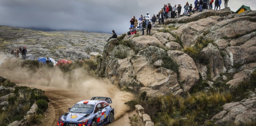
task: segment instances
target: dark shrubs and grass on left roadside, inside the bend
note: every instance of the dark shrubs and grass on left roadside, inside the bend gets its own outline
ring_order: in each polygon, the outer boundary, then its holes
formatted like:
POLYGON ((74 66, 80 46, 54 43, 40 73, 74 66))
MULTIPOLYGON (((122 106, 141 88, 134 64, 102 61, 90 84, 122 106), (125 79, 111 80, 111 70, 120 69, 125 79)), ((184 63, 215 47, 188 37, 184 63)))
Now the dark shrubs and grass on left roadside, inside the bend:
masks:
MULTIPOLYGON (((0 86, 5 87, 1 91, 0 95, 4 96, 10 93, 14 93, 14 95, 9 96, 7 99, 8 104, 0 107, 0 126, 6 126, 11 122, 20 121, 27 114, 27 111, 30 110, 31 106, 34 102, 38 103, 38 101, 44 101, 44 105, 38 106, 37 113, 30 118, 30 124, 38 123, 39 118, 42 117, 42 114, 48 108, 49 99, 44 95, 44 91, 36 88, 29 87, 17 87, 14 83, 10 82, 10 80, 5 80, 0 83, 0 86), (7 87, 14 87, 15 90, 11 91, 7 87)), ((5 102, 7 102, 5 101, 5 102)))

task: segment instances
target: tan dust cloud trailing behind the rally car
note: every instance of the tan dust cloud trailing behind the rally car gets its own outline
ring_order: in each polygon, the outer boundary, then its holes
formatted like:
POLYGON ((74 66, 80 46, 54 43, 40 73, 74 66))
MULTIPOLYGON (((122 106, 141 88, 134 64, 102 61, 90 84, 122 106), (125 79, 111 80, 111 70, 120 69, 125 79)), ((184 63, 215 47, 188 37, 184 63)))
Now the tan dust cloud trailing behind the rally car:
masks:
MULTIPOLYGON (((84 68, 76 68, 64 73, 58 67, 27 68, 21 67, 22 60, 17 58, 5 58, 0 55, 0 76, 10 79, 16 84, 40 85, 58 88, 59 90, 74 92, 90 99, 92 96, 104 96, 112 99, 111 106, 115 109, 115 119, 124 115, 129 108, 124 102, 133 99, 129 92, 120 91, 107 79, 90 76, 84 68)), ((79 101, 77 101, 79 102, 79 101)), ((68 107, 68 106, 67 106, 68 107)))

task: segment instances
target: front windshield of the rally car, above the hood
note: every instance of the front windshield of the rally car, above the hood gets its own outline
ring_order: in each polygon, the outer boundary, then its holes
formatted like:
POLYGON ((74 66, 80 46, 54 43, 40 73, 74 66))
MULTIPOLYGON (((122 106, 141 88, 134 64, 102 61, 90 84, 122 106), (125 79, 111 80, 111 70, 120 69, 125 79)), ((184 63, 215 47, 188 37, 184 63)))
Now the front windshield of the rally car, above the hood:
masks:
POLYGON ((94 104, 75 104, 69 112, 75 113, 93 113, 94 104))

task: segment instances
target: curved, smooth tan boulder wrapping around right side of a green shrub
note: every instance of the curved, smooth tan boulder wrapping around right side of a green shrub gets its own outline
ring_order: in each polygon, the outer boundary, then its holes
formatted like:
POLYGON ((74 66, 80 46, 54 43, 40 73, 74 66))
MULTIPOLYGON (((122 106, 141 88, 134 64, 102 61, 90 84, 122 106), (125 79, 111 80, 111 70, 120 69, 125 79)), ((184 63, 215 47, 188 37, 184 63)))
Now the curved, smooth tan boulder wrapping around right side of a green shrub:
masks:
POLYGON ((189 91, 199 80, 199 72, 195 61, 182 51, 167 51, 168 56, 177 61, 179 67, 179 81, 184 91, 189 91))

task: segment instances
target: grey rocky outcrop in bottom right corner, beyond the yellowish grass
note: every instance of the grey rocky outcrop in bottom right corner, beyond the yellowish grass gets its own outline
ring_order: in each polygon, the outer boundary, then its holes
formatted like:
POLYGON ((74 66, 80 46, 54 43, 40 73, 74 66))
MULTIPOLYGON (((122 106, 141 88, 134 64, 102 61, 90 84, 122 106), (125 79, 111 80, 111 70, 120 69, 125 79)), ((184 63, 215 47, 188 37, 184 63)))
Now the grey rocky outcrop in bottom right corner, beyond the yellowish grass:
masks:
POLYGON ((241 102, 227 103, 222 106, 223 111, 215 115, 215 125, 227 125, 234 122, 236 125, 242 125, 251 122, 256 115, 256 97, 242 100, 241 102))

